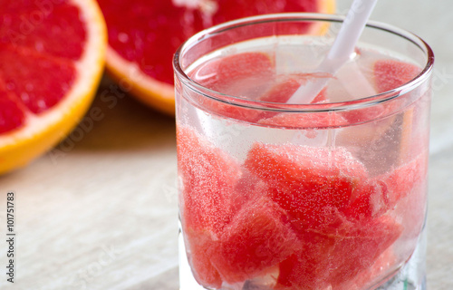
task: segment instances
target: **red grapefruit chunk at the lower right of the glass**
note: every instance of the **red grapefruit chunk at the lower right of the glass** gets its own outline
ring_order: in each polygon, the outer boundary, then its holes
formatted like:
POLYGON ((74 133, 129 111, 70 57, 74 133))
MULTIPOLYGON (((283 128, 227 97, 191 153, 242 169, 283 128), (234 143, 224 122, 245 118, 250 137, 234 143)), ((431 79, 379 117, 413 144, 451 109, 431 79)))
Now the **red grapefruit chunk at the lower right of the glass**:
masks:
POLYGON ((280 264, 275 289, 349 290, 349 282, 366 272, 400 232, 400 225, 387 217, 306 231, 303 250, 280 264))

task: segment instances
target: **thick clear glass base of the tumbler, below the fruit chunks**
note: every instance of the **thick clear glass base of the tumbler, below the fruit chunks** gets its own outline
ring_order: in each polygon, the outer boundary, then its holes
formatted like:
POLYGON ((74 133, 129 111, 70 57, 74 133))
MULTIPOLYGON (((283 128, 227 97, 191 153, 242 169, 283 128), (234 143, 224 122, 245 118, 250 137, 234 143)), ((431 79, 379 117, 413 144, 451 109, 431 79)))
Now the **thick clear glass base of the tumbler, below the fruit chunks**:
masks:
MULTIPOLYGON (((390 277, 384 284, 378 287, 371 287, 367 290, 427 290, 425 266, 426 241, 426 230, 423 229, 414 254, 410 257, 410 260, 400 268, 400 271, 396 275, 390 277)), ((249 289, 249 287, 245 286, 242 290, 247 289, 249 289)), ((186 256, 184 240, 181 233, 179 233, 179 290, 208 290, 208 288, 198 285, 192 275, 190 266, 188 266, 188 258, 186 256)))

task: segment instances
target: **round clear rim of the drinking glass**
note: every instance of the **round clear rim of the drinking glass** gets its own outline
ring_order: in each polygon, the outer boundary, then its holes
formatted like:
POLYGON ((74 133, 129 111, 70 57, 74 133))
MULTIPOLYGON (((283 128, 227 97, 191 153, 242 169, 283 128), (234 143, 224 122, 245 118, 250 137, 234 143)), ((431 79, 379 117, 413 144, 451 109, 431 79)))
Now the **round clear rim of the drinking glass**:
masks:
POLYGON ((426 53, 426 63, 421 72, 415 76, 410 82, 396 87, 387 92, 377 93, 371 96, 365 96, 360 99, 354 99, 344 102, 325 102, 325 103, 308 103, 308 104, 289 104, 283 102, 263 102, 253 101, 239 96, 229 95, 207 87, 192 80, 180 66, 180 57, 183 53, 195 46, 197 43, 207 39, 210 35, 215 35, 226 30, 235 29, 236 27, 264 24, 273 22, 288 22, 288 21, 324 21, 342 23, 346 19, 345 15, 339 14, 318 14, 318 13, 279 13, 279 14, 262 14, 245 18, 228 21, 223 24, 217 24, 198 34, 194 34, 185 43, 182 43, 173 56, 173 69, 178 80, 188 85, 188 88, 204 97, 213 99, 217 102, 225 102, 229 105, 238 106, 246 109, 261 110, 261 111, 286 111, 286 112, 320 112, 320 111, 344 111, 352 109, 361 109, 382 102, 390 101, 400 95, 405 95, 407 92, 414 90, 421 83, 429 78, 434 65, 434 53, 429 47, 429 44, 421 39, 417 34, 412 34, 407 30, 398 28, 391 24, 385 24, 378 21, 368 21, 366 27, 379 29, 383 32, 394 34, 406 39, 410 43, 415 44, 419 49, 426 53))

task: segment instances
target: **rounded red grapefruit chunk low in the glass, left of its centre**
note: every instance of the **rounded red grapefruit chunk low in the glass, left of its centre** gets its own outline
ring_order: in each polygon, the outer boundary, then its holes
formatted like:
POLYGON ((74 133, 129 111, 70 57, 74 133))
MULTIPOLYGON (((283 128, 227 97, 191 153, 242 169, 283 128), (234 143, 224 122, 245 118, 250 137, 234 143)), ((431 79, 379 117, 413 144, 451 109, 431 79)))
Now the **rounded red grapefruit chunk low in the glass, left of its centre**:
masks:
POLYGON ((284 210, 268 198, 252 200, 224 228, 212 264, 230 284, 265 275, 299 249, 284 210))

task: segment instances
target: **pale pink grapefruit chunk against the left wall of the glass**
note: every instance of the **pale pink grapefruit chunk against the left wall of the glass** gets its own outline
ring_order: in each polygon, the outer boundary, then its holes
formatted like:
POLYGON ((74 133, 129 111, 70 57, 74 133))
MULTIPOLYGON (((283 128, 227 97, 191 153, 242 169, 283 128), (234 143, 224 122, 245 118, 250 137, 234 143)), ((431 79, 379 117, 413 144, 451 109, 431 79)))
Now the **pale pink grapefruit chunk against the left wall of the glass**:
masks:
POLYGON ((218 232, 231 218, 230 200, 240 168, 188 127, 178 127, 177 139, 183 221, 187 227, 218 232))

